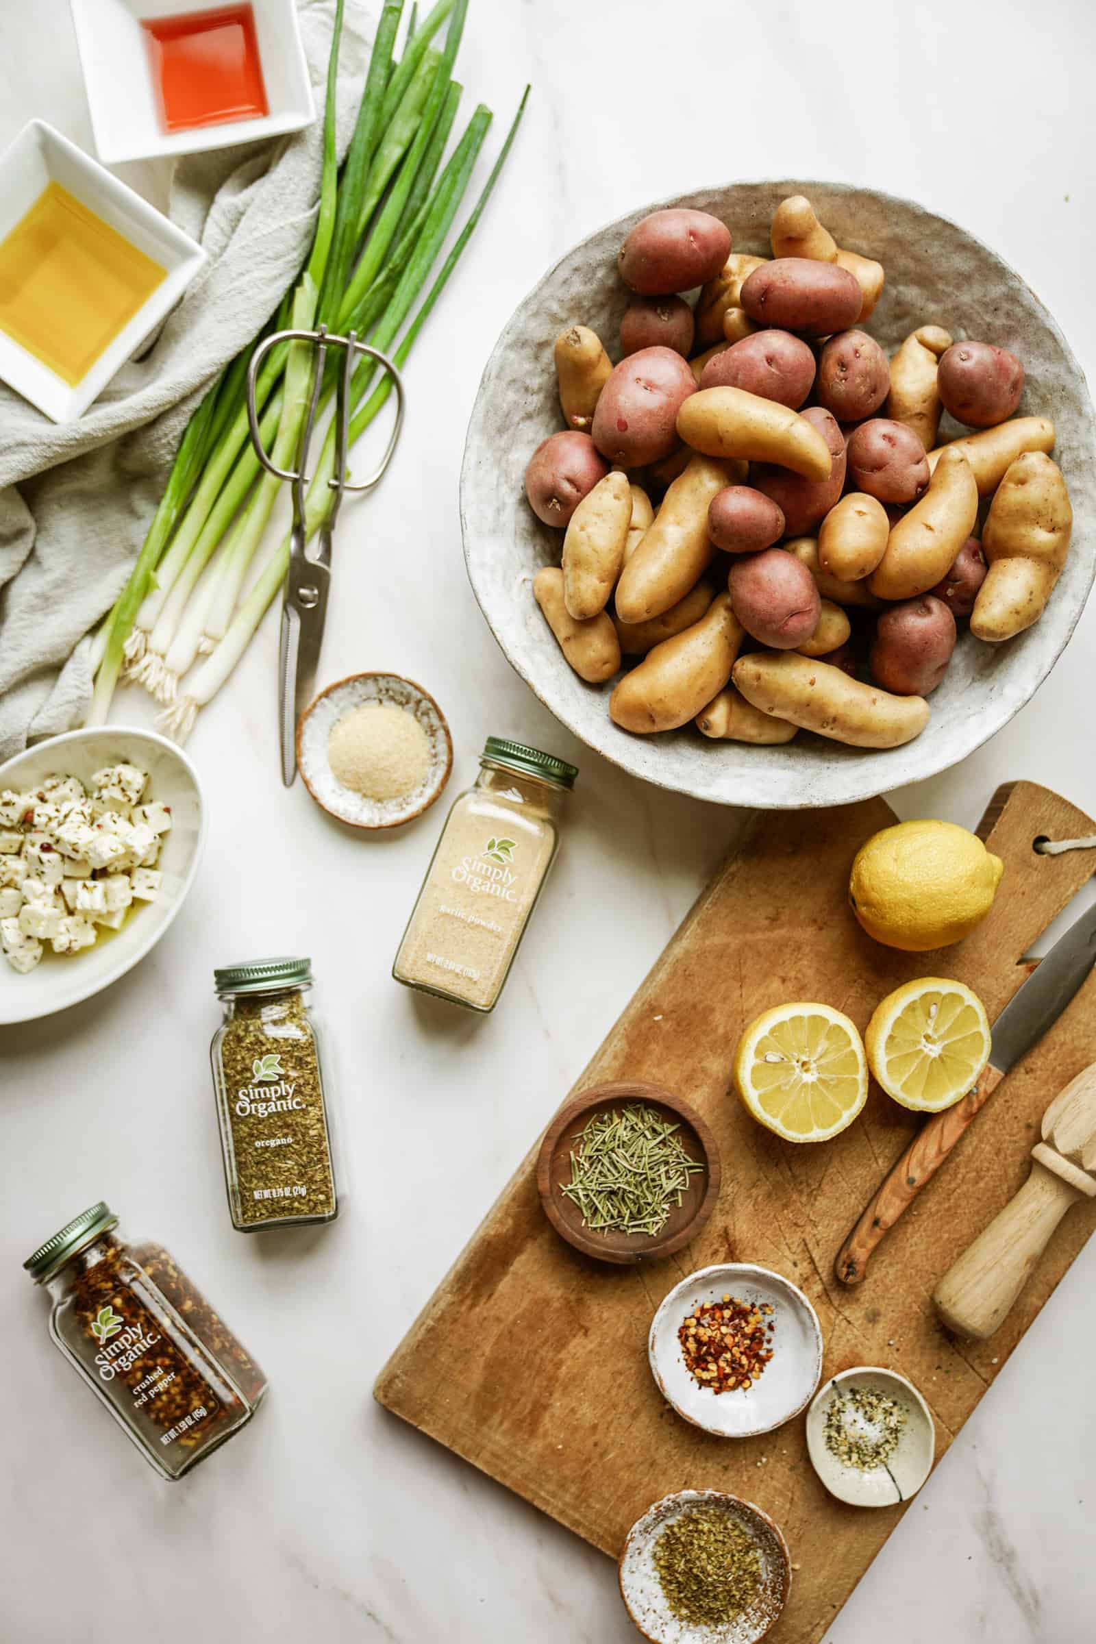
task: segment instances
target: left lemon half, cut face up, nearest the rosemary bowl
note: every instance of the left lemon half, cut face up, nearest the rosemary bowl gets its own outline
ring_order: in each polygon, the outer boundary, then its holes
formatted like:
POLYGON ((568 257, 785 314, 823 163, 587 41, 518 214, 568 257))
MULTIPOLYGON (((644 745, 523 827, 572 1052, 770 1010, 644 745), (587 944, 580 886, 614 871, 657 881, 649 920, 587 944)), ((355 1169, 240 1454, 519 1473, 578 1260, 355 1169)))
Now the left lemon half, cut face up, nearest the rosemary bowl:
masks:
POLYGON ((735 1083, 766 1129, 785 1141, 828 1141, 868 1100, 864 1044, 828 1004, 777 1004, 738 1041, 735 1083))

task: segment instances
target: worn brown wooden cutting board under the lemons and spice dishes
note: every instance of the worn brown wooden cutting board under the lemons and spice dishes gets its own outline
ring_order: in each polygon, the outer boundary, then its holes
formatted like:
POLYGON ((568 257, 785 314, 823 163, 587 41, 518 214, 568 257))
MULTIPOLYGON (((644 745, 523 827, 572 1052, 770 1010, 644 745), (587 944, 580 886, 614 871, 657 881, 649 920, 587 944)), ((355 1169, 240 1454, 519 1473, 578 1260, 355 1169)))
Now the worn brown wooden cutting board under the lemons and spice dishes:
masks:
POLYGON ((882 799, 754 817, 575 1085, 646 1078, 700 1110, 723 1161, 703 1233, 647 1268, 580 1256, 541 1210, 534 1148, 375 1389, 389 1411, 613 1557, 669 1491, 716 1488, 756 1501, 784 1529, 795 1565, 771 1644, 823 1636, 905 1508, 835 1501, 810 1466, 802 1419, 743 1442, 680 1420, 646 1353, 667 1291, 716 1261, 785 1274, 818 1310, 823 1374, 853 1365, 902 1371, 932 1406, 940 1458, 1096 1223, 1096 1203, 1070 1212, 989 1342, 950 1340, 937 1323, 937 1279, 1027 1175, 1050 1098, 1096 1060, 1096 977, 996 1092, 859 1289, 836 1282, 833 1258, 917 1116, 873 1087, 845 1134, 795 1148, 728 1093, 741 1028, 787 1000, 823 1000, 863 1029, 891 988, 938 973, 976 988, 992 1021, 1027 975, 1022 955, 1096 868, 1093 852, 1032 848, 1040 835, 1096 832, 1083 812, 1032 783, 1004 787, 979 829, 1006 863, 992 912, 958 947, 897 954, 859 931, 845 899, 854 852, 894 820, 882 799))

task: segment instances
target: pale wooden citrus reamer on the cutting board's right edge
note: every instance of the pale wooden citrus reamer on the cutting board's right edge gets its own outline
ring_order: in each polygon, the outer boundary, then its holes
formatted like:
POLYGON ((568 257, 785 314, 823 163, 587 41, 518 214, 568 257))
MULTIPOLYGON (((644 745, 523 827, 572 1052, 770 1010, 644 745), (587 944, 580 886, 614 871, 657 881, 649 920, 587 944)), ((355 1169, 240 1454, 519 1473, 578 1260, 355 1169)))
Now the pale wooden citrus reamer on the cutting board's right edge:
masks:
POLYGON ((984 1340, 1004 1322, 1070 1205, 1096 1198, 1096 1062, 1055 1097, 1024 1187, 933 1292, 950 1330, 984 1340))

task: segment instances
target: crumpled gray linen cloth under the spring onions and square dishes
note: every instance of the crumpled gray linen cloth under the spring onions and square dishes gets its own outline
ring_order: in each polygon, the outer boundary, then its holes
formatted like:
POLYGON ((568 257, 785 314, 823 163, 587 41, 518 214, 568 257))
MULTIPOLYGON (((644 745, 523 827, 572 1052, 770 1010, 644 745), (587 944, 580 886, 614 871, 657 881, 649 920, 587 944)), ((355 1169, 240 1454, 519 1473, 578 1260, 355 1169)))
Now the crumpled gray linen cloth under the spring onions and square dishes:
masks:
MULTIPOLYGON (((209 263, 153 347, 64 426, 0 383, 0 760, 84 718, 90 638, 81 640, 125 585, 202 391, 274 312, 307 256, 335 7, 299 0, 299 10, 317 118, 291 138, 179 161, 169 212, 209 263)), ((366 62, 366 20, 347 5, 340 155, 366 62)))

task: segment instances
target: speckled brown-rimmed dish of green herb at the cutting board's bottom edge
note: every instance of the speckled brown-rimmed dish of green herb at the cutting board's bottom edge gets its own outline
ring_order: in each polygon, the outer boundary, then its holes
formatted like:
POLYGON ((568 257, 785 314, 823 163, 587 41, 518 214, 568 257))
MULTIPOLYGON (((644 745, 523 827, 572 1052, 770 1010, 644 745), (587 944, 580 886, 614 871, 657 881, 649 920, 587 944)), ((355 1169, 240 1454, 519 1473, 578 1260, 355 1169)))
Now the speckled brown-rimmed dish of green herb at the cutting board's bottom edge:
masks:
MULTIPOLYGON (((633 1524, 619 1555, 618 1575, 628 1614, 651 1644, 759 1644, 787 1603, 792 1560, 779 1527, 753 1501, 741 1501, 720 1489, 679 1489, 656 1501, 633 1524), (749 1544, 756 1590, 748 1605, 728 1619, 702 1624, 675 1614, 675 1608, 682 1608, 680 1598, 667 1596, 665 1577, 659 1573, 659 1542, 688 1516, 708 1517, 713 1512, 726 1516, 736 1531, 744 1532, 739 1540, 749 1544)), ((705 1593, 702 1582, 697 1596, 711 1600, 713 1593, 705 1593)), ((728 1608, 735 1611, 733 1603, 728 1608)))

